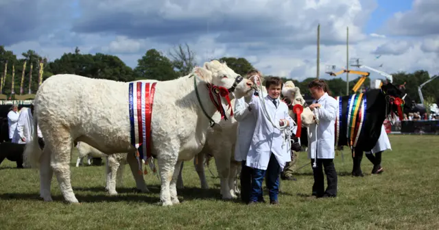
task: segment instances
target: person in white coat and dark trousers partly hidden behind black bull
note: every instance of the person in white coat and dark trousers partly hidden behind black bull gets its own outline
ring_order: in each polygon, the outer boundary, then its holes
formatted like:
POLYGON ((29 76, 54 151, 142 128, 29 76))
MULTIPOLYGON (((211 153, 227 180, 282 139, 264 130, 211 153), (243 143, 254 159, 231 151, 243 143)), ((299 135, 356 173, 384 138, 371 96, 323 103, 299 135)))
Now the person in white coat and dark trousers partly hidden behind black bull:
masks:
POLYGON ((388 149, 392 150, 392 146, 390 145, 389 137, 383 125, 381 126, 381 134, 379 135, 377 144, 375 144, 371 151, 366 152, 366 157, 368 157, 369 161, 373 164, 372 174, 379 174, 384 171, 381 167, 381 153, 388 149))

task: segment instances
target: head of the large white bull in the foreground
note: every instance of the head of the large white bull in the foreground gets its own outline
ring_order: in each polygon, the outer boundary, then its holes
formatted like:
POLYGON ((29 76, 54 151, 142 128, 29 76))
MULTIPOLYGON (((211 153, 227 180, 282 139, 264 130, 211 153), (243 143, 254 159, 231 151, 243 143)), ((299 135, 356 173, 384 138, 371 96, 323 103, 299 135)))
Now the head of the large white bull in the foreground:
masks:
POLYGON ((244 79, 241 75, 235 73, 233 69, 228 68, 226 63, 221 63, 217 60, 204 62, 203 67, 195 67, 194 71, 201 81, 217 86, 220 94, 233 92, 233 94, 230 94, 231 99, 240 99, 252 91, 252 81, 244 79))

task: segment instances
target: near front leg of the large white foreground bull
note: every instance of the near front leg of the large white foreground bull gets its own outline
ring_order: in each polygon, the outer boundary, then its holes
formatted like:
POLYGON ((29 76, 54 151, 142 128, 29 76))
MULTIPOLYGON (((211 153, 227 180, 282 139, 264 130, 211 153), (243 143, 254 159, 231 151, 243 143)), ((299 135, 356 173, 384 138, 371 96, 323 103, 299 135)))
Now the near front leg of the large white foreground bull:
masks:
MULTIPOLYGON (((158 162, 158 170, 160 172, 160 177, 161 177, 160 200, 163 206, 169 206, 172 205, 171 192, 169 186, 172 181, 172 178, 174 177, 174 170, 177 164, 177 156, 158 157, 157 162, 158 162)), ((180 169, 180 164, 178 164, 178 169, 180 169)), ((178 175, 176 175, 176 179, 177 177, 178 175)), ((174 181, 174 186, 176 186, 175 183, 176 180, 174 181)))

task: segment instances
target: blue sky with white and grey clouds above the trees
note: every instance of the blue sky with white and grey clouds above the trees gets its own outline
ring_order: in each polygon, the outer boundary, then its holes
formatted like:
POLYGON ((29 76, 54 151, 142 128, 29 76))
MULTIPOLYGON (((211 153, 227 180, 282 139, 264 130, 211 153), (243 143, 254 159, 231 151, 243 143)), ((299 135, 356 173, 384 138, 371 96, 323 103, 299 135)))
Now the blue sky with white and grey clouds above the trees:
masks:
POLYGON ((320 23, 321 78, 333 78, 327 66, 346 67, 346 27, 350 57, 362 64, 436 75, 438 11, 437 0, 0 0, 0 44, 49 60, 78 46, 135 67, 148 49, 167 54, 187 42, 198 65, 245 57, 264 75, 300 81, 316 77, 320 23))

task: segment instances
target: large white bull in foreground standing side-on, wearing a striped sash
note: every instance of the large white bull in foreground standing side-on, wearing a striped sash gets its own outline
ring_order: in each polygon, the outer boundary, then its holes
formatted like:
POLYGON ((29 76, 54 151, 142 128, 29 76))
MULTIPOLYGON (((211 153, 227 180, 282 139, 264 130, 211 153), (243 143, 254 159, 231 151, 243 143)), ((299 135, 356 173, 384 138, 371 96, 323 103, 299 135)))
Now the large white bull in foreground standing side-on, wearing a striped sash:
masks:
MULTIPOLYGON (((86 142, 107 154, 134 155, 128 84, 55 75, 40 86, 34 99, 34 127, 37 123, 40 126, 45 148, 40 151, 38 143, 32 141, 24 155, 32 167, 40 168, 40 196, 45 201, 52 200, 50 183, 55 172, 64 199, 78 203, 71 188, 69 168, 74 141, 86 142), (63 105, 61 110, 60 105, 63 105)), ((206 141, 210 118, 217 110, 206 84, 233 92, 232 99, 250 94, 253 86, 217 60, 193 68, 187 76, 156 83, 150 146, 152 155, 158 159, 163 205, 180 203, 176 191, 180 163, 192 159, 206 141)))

